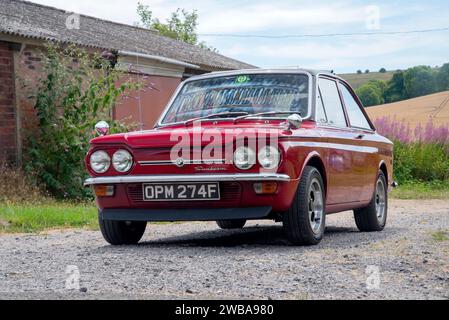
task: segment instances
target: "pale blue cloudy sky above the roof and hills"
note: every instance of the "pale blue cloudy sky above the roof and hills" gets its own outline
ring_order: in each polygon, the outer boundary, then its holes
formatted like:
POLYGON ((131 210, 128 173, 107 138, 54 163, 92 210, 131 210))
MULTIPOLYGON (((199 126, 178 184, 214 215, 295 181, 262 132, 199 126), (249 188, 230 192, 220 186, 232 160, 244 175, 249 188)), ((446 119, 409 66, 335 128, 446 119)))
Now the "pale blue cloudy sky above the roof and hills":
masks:
MULTIPOLYGON (((127 24, 138 21, 138 0, 32 1, 127 24)), ((198 10, 201 40, 224 55, 260 67, 301 66, 341 73, 449 62, 449 31, 360 35, 449 28, 447 0, 140 2, 149 5, 162 20, 176 8, 198 10), (348 33, 359 35, 285 37, 348 33)))

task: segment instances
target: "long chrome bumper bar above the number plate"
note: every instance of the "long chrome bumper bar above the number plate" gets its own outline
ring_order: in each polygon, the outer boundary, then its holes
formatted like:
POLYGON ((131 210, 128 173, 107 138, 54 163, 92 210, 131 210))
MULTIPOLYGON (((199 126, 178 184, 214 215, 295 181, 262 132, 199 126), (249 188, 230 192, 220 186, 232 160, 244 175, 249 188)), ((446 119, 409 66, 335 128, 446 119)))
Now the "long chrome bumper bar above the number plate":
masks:
POLYGON ((183 175, 148 175, 117 176, 89 178, 84 186, 98 184, 148 183, 148 182, 222 182, 222 181, 279 181, 289 182, 290 176, 278 173, 238 173, 238 174, 183 174, 183 175))

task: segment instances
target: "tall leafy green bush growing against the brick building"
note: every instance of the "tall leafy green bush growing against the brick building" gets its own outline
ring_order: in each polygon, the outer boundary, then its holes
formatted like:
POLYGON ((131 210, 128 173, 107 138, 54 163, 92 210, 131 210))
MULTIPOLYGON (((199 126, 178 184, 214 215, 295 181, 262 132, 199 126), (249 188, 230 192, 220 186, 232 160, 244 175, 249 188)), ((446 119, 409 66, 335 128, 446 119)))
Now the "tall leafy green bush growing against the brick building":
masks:
POLYGON ((75 47, 48 45, 44 74, 37 90, 35 110, 38 132, 28 135, 25 171, 34 182, 61 199, 88 199, 82 186, 83 159, 99 120, 108 120, 110 132, 130 126, 111 118, 121 96, 141 90, 144 84, 120 83, 123 73, 114 69, 111 54, 91 54, 75 47))

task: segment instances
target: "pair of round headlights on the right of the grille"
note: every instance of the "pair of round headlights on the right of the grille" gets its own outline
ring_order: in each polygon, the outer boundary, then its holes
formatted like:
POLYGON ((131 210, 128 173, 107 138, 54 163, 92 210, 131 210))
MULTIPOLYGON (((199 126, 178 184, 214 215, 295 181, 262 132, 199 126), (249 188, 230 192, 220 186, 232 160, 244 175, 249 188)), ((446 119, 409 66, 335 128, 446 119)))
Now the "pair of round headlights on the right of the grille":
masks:
MULTIPOLYGON (((272 146, 260 149, 257 154, 259 164, 264 169, 275 169, 281 160, 279 150, 272 146)), ((234 165, 240 170, 249 170, 256 164, 256 153, 248 147, 239 147, 234 152, 234 165)))

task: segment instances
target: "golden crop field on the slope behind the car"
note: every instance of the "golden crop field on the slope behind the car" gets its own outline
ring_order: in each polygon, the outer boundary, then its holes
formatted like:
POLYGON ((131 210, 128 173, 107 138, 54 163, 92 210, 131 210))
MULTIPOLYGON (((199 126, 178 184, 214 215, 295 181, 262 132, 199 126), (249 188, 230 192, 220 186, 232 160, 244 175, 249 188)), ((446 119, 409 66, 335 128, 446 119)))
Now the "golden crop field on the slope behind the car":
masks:
POLYGON ((385 116, 416 126, 432 119, 435 126, 449 126, 449 91, 431 94, 381 106, 366 108, 371 119, 385 116))

